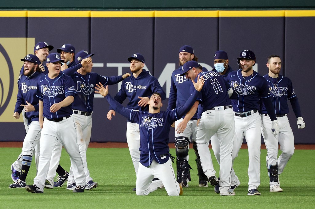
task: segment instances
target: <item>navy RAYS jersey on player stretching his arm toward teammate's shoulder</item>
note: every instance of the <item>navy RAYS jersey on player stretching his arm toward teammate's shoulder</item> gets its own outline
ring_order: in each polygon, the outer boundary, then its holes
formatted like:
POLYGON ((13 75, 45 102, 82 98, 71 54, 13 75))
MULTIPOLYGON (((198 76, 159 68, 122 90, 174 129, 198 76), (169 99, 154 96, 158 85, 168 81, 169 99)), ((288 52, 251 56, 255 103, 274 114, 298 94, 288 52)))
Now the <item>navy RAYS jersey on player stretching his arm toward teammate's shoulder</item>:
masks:
POLYGON ((74 101, 72 103, 72 109, 83 112, 93 111, 95 84, 101 82, 103 85, 112 85, 123 80, 122 75, 104 77, 93 72, 87 73, 86 75, 75 72, 71 75, 71 77, 75 84, 74 88, 77 91, 77 96, 74 97, 74 101))

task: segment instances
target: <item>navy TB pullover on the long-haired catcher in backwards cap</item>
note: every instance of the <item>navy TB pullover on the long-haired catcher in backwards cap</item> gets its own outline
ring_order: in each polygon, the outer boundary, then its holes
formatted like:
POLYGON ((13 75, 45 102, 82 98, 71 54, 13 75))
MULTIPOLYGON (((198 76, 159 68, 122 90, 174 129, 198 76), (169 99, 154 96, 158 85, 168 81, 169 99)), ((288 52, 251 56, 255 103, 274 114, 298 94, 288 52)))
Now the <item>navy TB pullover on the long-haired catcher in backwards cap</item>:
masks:
MULTIPOLYGON (((204 72, 208 70, 203 67, 204 72)), ((180 76, 183 73, 183 67, 180 66, 178 69, 174 70, 171 77, 171 88, 169 91, 169 103, 167 110, 175 109, 175 107, 180 107, 185 104, 190 96, 190 88, 193 86, 192 81, 187 79, 186 76, 180 76)), ((184 118, 183 115, 182 118, 184 118)), ((197 113, 192 117, 191 120, 197 119, 197 113)))

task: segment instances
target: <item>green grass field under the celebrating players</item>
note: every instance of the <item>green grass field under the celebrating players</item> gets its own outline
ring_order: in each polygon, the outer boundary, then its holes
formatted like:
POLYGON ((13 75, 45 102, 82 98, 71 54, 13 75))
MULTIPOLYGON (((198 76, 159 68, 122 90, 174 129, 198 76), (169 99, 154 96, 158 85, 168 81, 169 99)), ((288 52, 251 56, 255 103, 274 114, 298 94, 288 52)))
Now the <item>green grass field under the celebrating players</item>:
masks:
MULTIPOLYGON (((266 170, 266 150, 261 151, 261 196, 248 196, 248 152, 241 150, 234 169, 241 181, 235 196, 215 194, 213 186, 199 187, 195 154, 190 150, 192 181, 184 188, 184 195, 169 197, 164 189, 148 196, 136 196, 135 172, 127 148, 89 148, 89 171, 99 186, 96 189, 73 193, 66 186, 45 189, 43 194, 33 194, 25 189, 9 189, 12 184, 10 166, 21 148, 0 148, 0 208, 314 208, 315 205, 315 150, 295 150, 284 173, 280 175, 284 192, 269 192, 266 170)), ((212 152, 212 151, 211 151, 212 152)), ((175 156, 175 149, 171 149, 175 156)), ((217 174, 219 166, 212 156, 217 174)), ((69 170, 70 159, 62 150, 60 164, 69 170)), ((175 169, 175 163, 173 164, 175 169)), ((36 169, 32 164, 26 183, 33 184, 36 169)))

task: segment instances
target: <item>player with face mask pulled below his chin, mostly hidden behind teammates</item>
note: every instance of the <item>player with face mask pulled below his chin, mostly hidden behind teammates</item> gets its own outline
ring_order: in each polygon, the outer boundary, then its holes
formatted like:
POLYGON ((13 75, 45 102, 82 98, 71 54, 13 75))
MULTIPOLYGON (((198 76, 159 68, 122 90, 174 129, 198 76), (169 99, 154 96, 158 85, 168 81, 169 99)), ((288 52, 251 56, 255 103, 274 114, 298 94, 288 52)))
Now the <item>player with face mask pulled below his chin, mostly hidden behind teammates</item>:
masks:
MULTIPOLYGON (((57 52, 60 53, 60 57, 64 62, 61 62, 61 71, 66 72, 65 69, 76 65, 74 61, 75 48, 71 44, 64 44, 62 47, 57 49, 57 52)), ((71 74, 67 74, 71 75, 71 74)), ((61 156, 62 144, 59 142, 53 149, 49 171, 47 174, 47 181, 45 182, 46 187, 51 188, 51 185, 54 187, 60 187, 68 180, 69 173, 61 167, 59 164, 60 156, 61 156), (54 182, 54 177, 58 173, 56 178, 56 182, 54 182), (54 184, 52 184, 54 182, 54 184)), ((74 184, 75 187, 75 184, 74 184)))

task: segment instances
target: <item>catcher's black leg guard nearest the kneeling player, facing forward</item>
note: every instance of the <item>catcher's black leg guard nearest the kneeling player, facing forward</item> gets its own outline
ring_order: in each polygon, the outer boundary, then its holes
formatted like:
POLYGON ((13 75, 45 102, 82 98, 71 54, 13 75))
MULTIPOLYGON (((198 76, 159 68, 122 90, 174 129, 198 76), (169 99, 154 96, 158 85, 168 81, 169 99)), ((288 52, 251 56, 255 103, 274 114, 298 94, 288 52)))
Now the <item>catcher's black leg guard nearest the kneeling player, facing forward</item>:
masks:
MULTIPOLYGON (((187 185, 187 177, 189 173, 189 164, 186 159, 188 155, 189 139, 184 136, 175 138, 176 147, 176 169, 177 169, 177 182, 187 185)), ((190 168, 191 169, 191 168, 190 168)))

